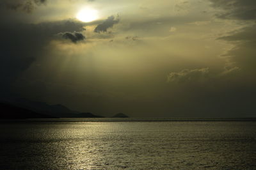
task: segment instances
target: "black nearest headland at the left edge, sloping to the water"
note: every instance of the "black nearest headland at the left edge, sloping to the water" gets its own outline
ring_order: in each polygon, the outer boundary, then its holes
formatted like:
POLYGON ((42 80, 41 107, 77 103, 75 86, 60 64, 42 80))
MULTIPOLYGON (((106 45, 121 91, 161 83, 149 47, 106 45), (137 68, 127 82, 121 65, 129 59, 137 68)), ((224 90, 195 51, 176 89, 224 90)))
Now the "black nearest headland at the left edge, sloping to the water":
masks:
POLYGON ((47 114, 30 111, 11 104, 0 103, 0 119, 55 118, 47 114))

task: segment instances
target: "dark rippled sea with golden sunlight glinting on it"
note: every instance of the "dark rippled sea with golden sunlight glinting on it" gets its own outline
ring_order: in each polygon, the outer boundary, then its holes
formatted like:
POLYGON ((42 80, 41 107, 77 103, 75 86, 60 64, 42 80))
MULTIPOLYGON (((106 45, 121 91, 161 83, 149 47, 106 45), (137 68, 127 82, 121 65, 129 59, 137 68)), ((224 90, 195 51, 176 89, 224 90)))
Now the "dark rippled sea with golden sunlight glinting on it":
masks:
POLYGON ((256 169, 256 121, 0 121, 0 169, 256 169))

